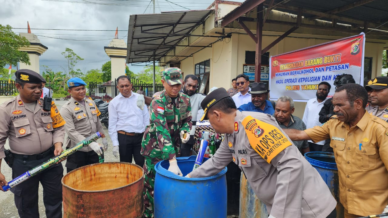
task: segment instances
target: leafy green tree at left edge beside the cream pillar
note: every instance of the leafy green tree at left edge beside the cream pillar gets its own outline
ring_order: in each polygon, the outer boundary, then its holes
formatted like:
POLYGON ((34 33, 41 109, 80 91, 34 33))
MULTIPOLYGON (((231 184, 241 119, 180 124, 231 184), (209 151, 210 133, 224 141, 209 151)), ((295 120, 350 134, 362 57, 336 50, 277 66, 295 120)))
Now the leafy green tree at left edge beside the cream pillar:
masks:
POLYGON ((27 52, 18 50, 21 47, 29 47, 27 38, 16 35, 11 26, 0 24, 0 67, 6 64, 17 66, 17 62, 31 65, 27 52))

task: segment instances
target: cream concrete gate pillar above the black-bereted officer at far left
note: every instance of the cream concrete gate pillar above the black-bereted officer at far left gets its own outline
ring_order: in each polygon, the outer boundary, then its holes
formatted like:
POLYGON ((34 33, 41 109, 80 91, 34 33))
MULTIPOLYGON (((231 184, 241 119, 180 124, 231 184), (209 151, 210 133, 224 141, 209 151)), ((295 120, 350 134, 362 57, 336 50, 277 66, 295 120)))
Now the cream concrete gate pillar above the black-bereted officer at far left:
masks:
POLYGON ((43 54, 48 48, 42 45, 38 39, 38 36, 33 33, 19 33, 19 35, 26 37, 29 41, 29 47, 21 47, 19 48, 19 51, 27 52, 29 56, 29 62, 31 62, 31 65, 20 62, 20 69, 30 69, 36 73, 40 73, 39 56, 43 54))

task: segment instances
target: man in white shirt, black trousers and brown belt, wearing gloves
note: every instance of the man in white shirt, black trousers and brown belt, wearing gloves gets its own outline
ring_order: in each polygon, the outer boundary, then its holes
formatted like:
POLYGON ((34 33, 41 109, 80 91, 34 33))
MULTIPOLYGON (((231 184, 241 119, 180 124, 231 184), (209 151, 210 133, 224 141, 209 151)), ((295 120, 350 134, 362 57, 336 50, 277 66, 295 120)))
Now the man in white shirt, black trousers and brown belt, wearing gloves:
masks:
POLYGON ((145 127, 149 124, 147 107, 137 106, 138 98, 143 95, 132 92, 132 83, 128 76, 117 78, 117 88, 120 92, 111 100, 109 110, 109 136, 113 142, 113 155, 121 162, 144 165, 144 157, 140 154, 145 127))

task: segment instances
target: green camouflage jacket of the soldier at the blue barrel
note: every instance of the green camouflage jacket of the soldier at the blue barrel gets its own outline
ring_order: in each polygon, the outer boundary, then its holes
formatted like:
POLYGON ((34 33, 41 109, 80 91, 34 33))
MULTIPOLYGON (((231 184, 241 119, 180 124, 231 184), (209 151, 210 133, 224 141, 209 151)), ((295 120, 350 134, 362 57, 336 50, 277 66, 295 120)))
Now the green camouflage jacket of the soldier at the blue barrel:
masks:
POLYGON ((175 158, 180 145, 180 131, 191 130, 191 104, 189 96, 179 93, 176 106, 163 91, 150 106, 150 124, 145 128, 141 154, 149 158, 169 160, 175 158))

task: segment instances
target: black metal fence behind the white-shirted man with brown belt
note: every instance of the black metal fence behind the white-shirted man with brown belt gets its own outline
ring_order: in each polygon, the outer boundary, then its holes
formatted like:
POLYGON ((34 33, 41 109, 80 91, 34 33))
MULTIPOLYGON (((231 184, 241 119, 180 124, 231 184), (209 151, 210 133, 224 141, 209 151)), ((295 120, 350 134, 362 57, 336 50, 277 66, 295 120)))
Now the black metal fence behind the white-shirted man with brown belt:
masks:
MULTIPOLYGON (((132 87, 135 89, 135 92, 139 90, 140 87, 143 87, 146 95, 152 97, 153 92, 153 84, 144 83, 136 78, 131 78, 132 87)), ((116 88, 117 82, 116 79, 111 82, 102 82, 95 83, 89 82, 88 92, 90 97, 94 97, 96 99, 110 100, 118 95, 119 91, 116 88)), ((162 91, 164 89, 163 85, 155 84, 155 92, 162 91)))

